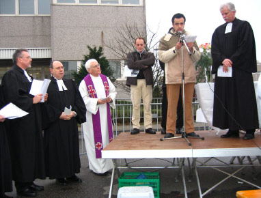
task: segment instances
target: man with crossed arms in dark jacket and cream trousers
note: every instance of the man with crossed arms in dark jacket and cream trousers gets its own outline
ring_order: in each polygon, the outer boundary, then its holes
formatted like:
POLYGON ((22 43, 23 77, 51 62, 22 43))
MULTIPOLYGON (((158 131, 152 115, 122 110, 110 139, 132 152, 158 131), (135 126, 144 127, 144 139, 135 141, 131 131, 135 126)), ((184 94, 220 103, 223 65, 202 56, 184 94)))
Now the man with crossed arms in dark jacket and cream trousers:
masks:
POLYGON ((153 72, 152 66, 155 63, 153 53, 147 52, 145 40, 143 38, 135 39, 135 51, 128 53, 127 65, 130 70, 139 70, 136 77, 128 77, 126 85, 130 86, 130 98, 133 102, 133 130, 131 135, 139 133, 141 98, 143 100, 144 126, 146 133, 155 134, 152 130, 152 113, 150 103, 152 101, 153 72))

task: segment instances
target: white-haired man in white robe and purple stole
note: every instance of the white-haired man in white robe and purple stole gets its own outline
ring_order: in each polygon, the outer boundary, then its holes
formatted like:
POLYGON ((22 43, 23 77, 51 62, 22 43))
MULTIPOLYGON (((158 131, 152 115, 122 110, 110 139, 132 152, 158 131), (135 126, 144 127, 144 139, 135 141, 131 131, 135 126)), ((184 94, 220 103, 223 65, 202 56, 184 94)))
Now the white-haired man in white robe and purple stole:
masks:
POLYGON ((110 106, 115 108, 116 91, 114 85, 101 74, 96 59, 85 63, 89 74, 81 81, 79 90, 87 113, 83 133, 89 167, 97 175, 106 175, 113 168, 112 160, 101 158, 101 151, 113 140, 110 106))

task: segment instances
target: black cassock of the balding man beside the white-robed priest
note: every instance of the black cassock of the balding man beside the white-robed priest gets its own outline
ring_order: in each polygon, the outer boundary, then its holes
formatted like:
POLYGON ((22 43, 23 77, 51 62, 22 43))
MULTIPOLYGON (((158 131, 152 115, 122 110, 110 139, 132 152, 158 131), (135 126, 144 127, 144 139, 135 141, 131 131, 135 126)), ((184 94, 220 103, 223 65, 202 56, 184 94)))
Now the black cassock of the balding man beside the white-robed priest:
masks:
POLYGON ((72 80, 64 79, 68 90, 59 91, 56 80, 52 77, 44 102, 44 154, 46 176, 50 179, 68 178, 80 172, 79 124, 86 121, 86 109, 79 89, 72 80), (59 119, 67 107, 77 113, 70 120, 59 119))

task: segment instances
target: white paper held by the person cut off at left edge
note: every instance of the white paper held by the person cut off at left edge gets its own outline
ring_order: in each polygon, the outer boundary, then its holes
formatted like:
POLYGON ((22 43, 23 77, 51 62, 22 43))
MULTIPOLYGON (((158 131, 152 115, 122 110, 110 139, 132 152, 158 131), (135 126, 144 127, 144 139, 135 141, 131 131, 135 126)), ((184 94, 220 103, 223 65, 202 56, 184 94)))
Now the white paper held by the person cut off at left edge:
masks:
POLYGON ((29 114, 29 113, 27 113, 26 111, 23 111, 22 109, 16 107, 16 105, 14 105, 11 102, 9 104, 5 105, 5 107, 3 107, 0 110, 0 115, 3 115, 3 117, 8 118, 8 119, 23 117, 27 114, 29 114))

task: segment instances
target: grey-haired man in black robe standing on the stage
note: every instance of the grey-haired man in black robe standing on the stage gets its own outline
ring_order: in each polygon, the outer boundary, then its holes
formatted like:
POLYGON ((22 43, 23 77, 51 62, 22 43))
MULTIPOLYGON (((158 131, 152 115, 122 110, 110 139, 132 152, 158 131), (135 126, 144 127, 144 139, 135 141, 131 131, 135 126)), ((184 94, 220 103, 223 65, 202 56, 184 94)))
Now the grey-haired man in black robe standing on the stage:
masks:
POLYGON ((239 137, 253 139, 258 128, 258 111, 252 72, 257 71, 256 45, 251 25, 235 17, 233 3, 221 5, 225 24, 217 27, 212 35, 212 73, 215 77, 213 126, 228 128, 221 138, 239 137), (232 77, 221 77, 217 71, 228 72, 232 77))

